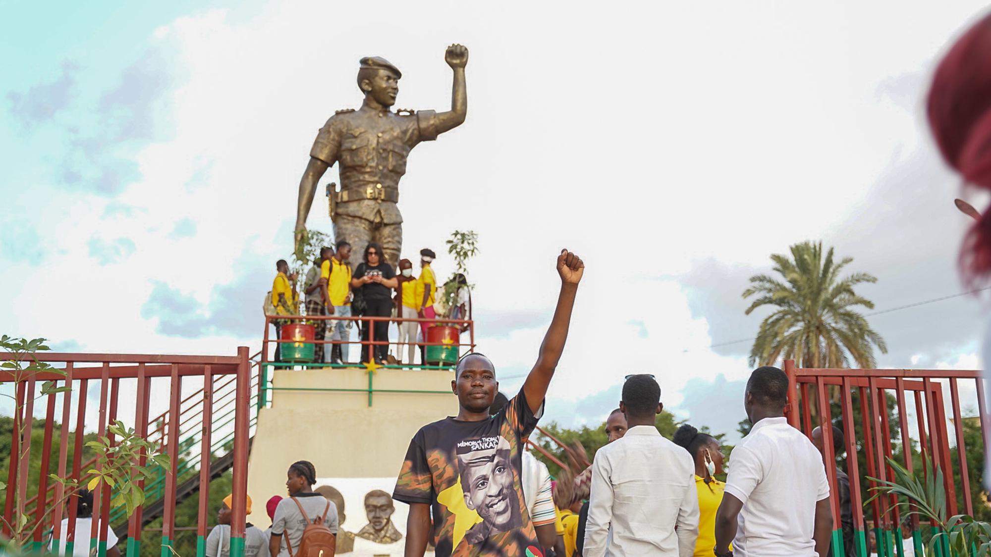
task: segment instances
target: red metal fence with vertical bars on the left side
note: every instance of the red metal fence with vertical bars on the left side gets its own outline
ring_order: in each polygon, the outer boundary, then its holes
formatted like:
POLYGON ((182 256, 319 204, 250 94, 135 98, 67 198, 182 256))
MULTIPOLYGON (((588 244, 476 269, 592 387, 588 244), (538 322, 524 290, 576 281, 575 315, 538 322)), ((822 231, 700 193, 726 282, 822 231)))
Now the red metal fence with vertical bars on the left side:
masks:
MULTIPOLYGON (((197 554, 204 554, 204 539, 207 518, 208 485, 213 464, 218 458, 226 457, 227 466, 233 468, 233 512, 231 514, 231 554, 241 555, 244 547, 245 495, 247 493, 248 445, 251 415, 255 413, 254 399, 257 398, 257 380, 252 380, 252 366, 248 349, 240 347, 237 356, 167 356, 167 355, 116 355, 116 354, 62 354, 40 353, 38 358, 64 372, 61 376, 52 372, 31 375, 26 381, 18 382, 15 395, 18 407, 23 408, 14 416, 14 429, 11 438, 11 463, 8 473, 8 490, 4 503, 4 516, 14 516, 15 508, 29 515, 29 526, 33 528, 32 545, 38 549, 53 546, 64 540, 66 550, 71 551, 75 542, 76 508, 72 499, 66 500, 61 484, 50 482, 49 475, 73 480, 78 486, 85 486, 94 475, 87 471, 100 470, 100 464, 92 459, 85 464, 82 454, 85 449, 84 436, 96 433, 107 436, 114 442, 113 433, 108 427, 121 420, 128 427, 134 427, 137 435, 158 443, 163 452, 169 455, 169 469, 161 470, 158 479, 139 482, 146 494, 157 493, 161 497, 147 495, 144 505, 126 516, 121 508, 112 508, 113 489, 101 482, 94 491, 91 531, 87 536, 90 549, 99 555, 106 552, 107 530, 114 522, 126 520, 128 555, 142 554, 141 533, 147 522, 143 513, 149 504, 159 504, 163 517, 161 549, 145 550, 145 554, 158 553, 171 555, 166 545, 171 544, 175 529, 175 503, 179 490, 177 482, 188 476, 198 484, 195 491, 199 498, 198 547, 197 554), (92 365, 88 365, 92 364, 92 365), (70 392, 53 392, 37 395, 43 382, 53 381, 58 387, 68 387, 70 392), (254 385, 253 385, 254 383, 254 385), (194 390, 183 396, 183 387, 194 390), (99 402, 96 408, 90 404, 91 395, 98 390, 99 402), (253 392, 254 391, 254 392, 253 392), (154 403, 167 400, 167 409, 162 414, 150 418, 150 408, 154 403), (36 493, 28 493, 28 475, 32 455, 32 417, 35 416, 36 401, 45 405, 45 433, 41 447, 41 468, 36 493), (127 404, 134 404, 133 416, 127 411, 127 404), (56 407, 60 408, 58 457, 52 462, 54 451, 54 426, 56 407), (230 416, 226 422, 220 415, 230 416), (95 421, 92 414, 96 414, 95 421), (74 416, 74 422, 73 422, 74 416), (23 436, 18 432, 24 428, 23 436), (69 454, 69 438, 74 439, 69 454), (185 437, 185 441, 181 438, 185 437), (221 445, 233 444, 230 454, 216 455, 217 440, 221 445), (181 449, 180 451, 180 444, 181 449), (179 463, 179 455, 199 446, 198 456, 179 463), (198 465, 198 473, 195 468, 198 465), (198 480, 198 481, 196 481, 198 480), (154 485, 156 483, 161 485, 154 485), (156 490, 158 490, 156 492, 156 490), (31 497, 31 499, 28 499, 31 497), (158 499, 158 501, 156 501, 158 499), (61 530, 61 519, 68 518, 67 531, 61 530)), ((6 370, 0 371, 0 382, 15 381, 6 370)), ((95 396, 93 396, 95 398, 95 396)), ((142 455, 133 466, 144 466, 142 455)), ((185 493, 189 493, 186 491, 185 493)), ((181 526, 188 526, 183 524, 181 526)), ((11 529, 4 526, 4 534, 11 529)), ((123 533, 123 532, 122 532, 123 533)), ((123 537, 123 536, 121 536, 123 537)))

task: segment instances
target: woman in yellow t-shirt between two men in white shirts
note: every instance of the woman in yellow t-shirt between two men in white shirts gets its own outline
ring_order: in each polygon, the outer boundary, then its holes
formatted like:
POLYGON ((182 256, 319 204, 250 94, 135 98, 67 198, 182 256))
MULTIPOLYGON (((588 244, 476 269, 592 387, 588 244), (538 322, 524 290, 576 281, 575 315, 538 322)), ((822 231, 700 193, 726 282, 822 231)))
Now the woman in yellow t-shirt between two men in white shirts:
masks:
POLYGON ((722 474, 722 449, 716 437, 683 424, 672 439, 685 447, 695 460, 695 486, 699 491, 699 539, 695 557, 712 557, 716 547, 716 510, 725 484, 716 480, 722 474))

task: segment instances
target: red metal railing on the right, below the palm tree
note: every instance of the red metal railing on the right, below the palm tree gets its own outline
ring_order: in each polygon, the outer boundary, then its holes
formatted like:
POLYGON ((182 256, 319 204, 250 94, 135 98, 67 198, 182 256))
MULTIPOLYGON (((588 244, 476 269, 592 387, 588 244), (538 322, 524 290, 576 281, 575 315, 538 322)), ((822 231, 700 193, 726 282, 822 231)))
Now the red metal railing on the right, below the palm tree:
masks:
MULTIPOLYGON (((839 370, 839 369, 808 369, 796 368, 795 362, 785 362, 785 372, 791 385, 789 403, 786 408, 789 423, 802 429, 812 436, 815 427, 822 427, 824 462, 829 481, 830 493, 836 492, 836 468, 833 465, 832 442, 832 410, 830 402, 839 398, 840 421, 843 437, 845 438, 846 474, 850 480, 850 506, 853 514, 855 548, 857 555, 867 555, 864 520, 863 492, 861 487, 873 487, 874 483, 866 478, 872 477, 891 481, 894 470, 887 459, 896 457, 903 461, 910 472, 914 469, 913 456, 919 454, 923 466, 933 462, 943 472, 943 488, 946 491, 946 502, 949 515, 958 511, 956 491, 962 493, 964 512, 973 514, 973 495, 980 491, 980 486, 972 490, 970 471, 967 469, 966 442, 964 439, 963 422, 961 418, 959 382, 974 382, 977 394, 979 426, 984 447, 989 446, 989 430, 987 427, 987 411, 984 407, 984 386, 978 371, 957 370, 839 370), (944 388, 949 390, 949 406, 952 426, 949 425, 946 413, 944 388), (815 396, 810 391, 815 390, 815 396), (912 393, 912 408, 916 414, 916 423, 909 419, 907 393, 912 393), (859 404, 853 404, 853 394, 859 398, 859 404), (896 426, 898 435, 892 432, 891 417, 889 417, 889 395, 894 397, 894 407, 897 413, 896 426), (813 408, 818 419, 813 419, 813 408), (855 415, 859 413, 859 416, 855 415), (856 436, 856 425, 861 428, 861 436, 856 436), (918 429, 918 439, 913 439, 910 426, 918 429), (950 449, 950 438, 956 449, 955 463, 950 449), (897 439, 896 439, 897 438, 897 439), (896 440, 898 441, 896 450, 896 440), (918 442, 918 445, 916 444, 918 442), (918 446, 918 450, 915 448, 918 446), (859 470, 857 455, 863 453, 866 470, 859 470), (900 454, 897 454, 900 453, 900 454), (954 470, 954 464, 956 465, 954 470), (959 474, 959 485, 954 481, 954 473, 959 474)), ((973 447, 979 450, 977 447, 973 447)), ((839 527, 840 508, 838 498, 831 498, 833 524, 839 527)), ((890 547, 893 539, 900 545, 902 540, 902 516, 896 505, 894 496, 876 498, 871 501, 870 510, 873 515, 875 538, 877 539, 878 554, 881 556, 894 555, 890 547)), ((911 516, 912 534, 917 546, 917 554, 921 555, 922 537, 919 530, 919 518, 911 516)))

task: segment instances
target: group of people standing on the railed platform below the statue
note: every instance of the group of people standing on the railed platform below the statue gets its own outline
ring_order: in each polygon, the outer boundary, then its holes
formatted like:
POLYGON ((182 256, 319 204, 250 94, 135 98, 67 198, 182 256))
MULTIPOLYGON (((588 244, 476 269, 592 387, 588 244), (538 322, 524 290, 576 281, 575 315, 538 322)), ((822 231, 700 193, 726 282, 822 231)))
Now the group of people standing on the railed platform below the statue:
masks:
MULTIPOLYGON (((351 363, 349 343, 356 321, 349 318, 367 316, 391 319, 357 321, 359 337, 363 342, 361 362, 412 366, 419 353, 419 363, 423 364, 426 362, 427 329, 438 318, 438 283, 431 267, 436 257, 433 250, 424 248, 420 250, 419 275, 413 277, 413 264, 408 259, 399 261, 397 275, 392 266, 385 262, 382 247, 372 242, 366 247, 362 262, 352 269, 348 263, 351 244, 338 242, 336 249, 325 247, 320 250, 320 257, 303 278, 301 294, 297 288, 297 274, 289 270, 285 260, 278 260, 272 291, 266 301, 267 314, 286 316, 286 319, 274 321, 275 336, 281 338, 281 327, 285 323, 300 319, 290 319, 289 316, 301 315, 302 301, 307 316, 340 318, 310 320, 315 326, 314 362, 351 363), (392 320, 396 323, 394 336, 390 336, 389 331, 392 320), (391 338, 395 339, 394 354, 389 354, 388 341, 391 338), (368 344, 370 339, 376 343, 372 351, 368 344)), ((471 319, 468 280, 462 274, 451 280, 456 284, 456 295, 447 317, 451 320, 471 319)), ((275 343, 276 362, 281 361, 280 352, 279 343, 275 343)))

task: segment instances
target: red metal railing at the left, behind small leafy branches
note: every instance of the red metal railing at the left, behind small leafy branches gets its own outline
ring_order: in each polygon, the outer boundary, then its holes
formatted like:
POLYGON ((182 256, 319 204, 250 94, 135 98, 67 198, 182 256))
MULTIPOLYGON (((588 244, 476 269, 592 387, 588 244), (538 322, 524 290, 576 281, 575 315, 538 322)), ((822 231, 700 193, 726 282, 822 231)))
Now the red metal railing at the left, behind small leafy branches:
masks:
MULTIPOLYGON (((216 405, 212 393, 217 382, 226 382, 222 387, 231 386, 233 397, 227 404, 233 404, 230 410, 234 413, 233 429, 230 432, 230 440, 233 441, 233 493, 235 516, 245 516, 244 495, 247 492, 247 464, 248 464, 248 440, 249 440, 249 412, 253 409, 251 384, 251 365, 248 357, 248 349, 241 347, 237 356, 162 356, 162 355, 112 355, 112 354, 60 354, 41 353, 38 358, 44 362, 59 367, 65 376, 55 373, 42 372, 34 374, 27 381, 20 382, 16 390, 18 406, 23 406, 23 412, 15 415, 14 433, 11 439, 11 467, 8 475, 9 489, 4 505, 4 515, 13 515, 15 495, 19 501, 34 502, 34 508, 30 512, 33 522, 30 526, 34 528, 33 540, 36 548, 46 545, 44 536, 51 531, 55 540, 64 539, 67 543, 74 543, 75 539, 75 504, 64 501, 62 487, 60 484, 51 485, 48 476, 52 469, 49 455, 52 452, 54 443, 55 408, 61 404, 61 424, 58 448, 58 461, 55 463, 56 474, 61 478, 74 480, 77 485, 84 486, 89 479, 89 475, 83 472, 88 467, 99 470, 99 464, 90 460, 84 466, 82 463, 82 453, 84 450, 84 435, 96 432, 99 435, 106 435, 111 443, 114 436, 108 435, 107 428, 118 419, 118 410, 122 403, 129 403, 130 392, 134 392, 135 413, 133 419, 122 420, 125 425, 134 427, 136 433, 158 442, 165 448, 165 453, 171 457, 170 469, 164 471, 163 481, 165 482, 165 505, 163 508, 164 528, 163 542, 169 543, 172 539, 174 529, 175 513, 175 481, 178 467, 178 444, 182 435, 183 425, 188 423, 195 415, 201 414, 202 419, 194 424, 201 430, 200 438, 200 486, 199 499, 201 512, 199 514, 198 530, 200 535, 206 531, 207 513, 202 511, 208 496, 209 483, 209 463, 211 455, 211 433, 216 433, 218 425, 212 419, 212 411, 216 405), (63 366, 58 366, 63 364, 63 366), (80 364, 98 364, 98 366, 81 367, 80 364), (134 390, 126 389, 124 394, 121 391, 122 382, 135 382, 134 390), (185 397, 181 396, 183 381, 188 385, 196 385, 202 381, 203 389, 197 390, 185 397), (46 399, 46 419, 45 434, 42 442, 42 462, 39 476, 37 493, 33 501, 28 500, 28 472, 29 459, 31 455, 31 427, 34 415, 35 391, 38 382, 55 381, 58 386, 69 387, 77 395, 73 398, 71 393, 51 393, 46 399), (97 383, 98 382, 98 383, 97 383), (167 389, 163 383, 167 382, 167 389), (96 409, 98 418, 96 423, 87 421, 87 405, 89 403, 90 384, 99 388, 99 407, 96 409), (233 384, 233 385, 232 385, 233 384), (164 396, 152 396, 152 391, 167 392, 164 396), (165 412, 155 418, 149 419, 150 406, 152 400, 162 400, 167 396, 168 407, 165 412), (74 429, 70 425, 72 415, 72 405, 75 405, 74 429), (200 406, 199 412, 193 416, 183 418, 183 414, 191 411, 196 405, 200 406), (184 407, 183 407, 184 406, 184 407), (130 423, 127 423, 130 421, 130 423), (21 423, 24 423, 25 433, 23 439, 17 432, 21 423), (149 432, 150 425, 154 429, 149 432), (71 458, 68 454, 68 438, 74 437, 74 446, 71 458), (20 455, 15 458, 15 455, 20 455), (69 462, 70 461, 70 462, 69 462), (205 478, 204 478, 205 475, 205 478), (61 518, 64 514, 68 516, 68 527, 66 532, 60 531, 61 518)), ((13 381, 13 376, 6 371, 0 372, 0 382, 13 381)), ((258 384, 256 384, 258 385, 258 384)), ((224 405, 220 406, 221 408, 224 405)), ((223 430, 224 425, 221 424, 223 430)), ((221 431, 222 432, 222 431, 221 431)), ((144 456, 132 466, 143 466, 144 456)), ((188 467, 187 467, 188 468, 188 467)), ((141 484, 140 484, 141 485, 141 484)), ((150 486, 142 486, 149 490, 150 486)), ((72 501, 72 500, 68 500, 72 501)), ((98 540, 97 549, 99 554, 106 551, 107 528, 111 525, 111 489, 103 483, 96 488, 94 493, 93 515, 99 520, 92 522, 91 540, 98 540)), ((150 503, 154 500, 149 498, 150 503)), ((29 508, 27 504, 19 504, 21 508, 29 508)), ((129 517, 128 526, 128 553, 139 554, 141 531, 143 525, 144 505, 139 506, 129 517), (132 553, 133 551, 133 553, 132 553)), ((119 514, 119 512, 118 512, 119 514)), ((244 520, 234 520, 232 522, 232 537, 243 540, 244 520)), ((10 529, 5 527, 4 533, 9 534, 10 529)), ((202 539, 202 538, 201 538, 202 539)), ((97 543, 97 542, 94 542, 97 543)), ((198 551, 202 554, 201 551, 198 551)))

